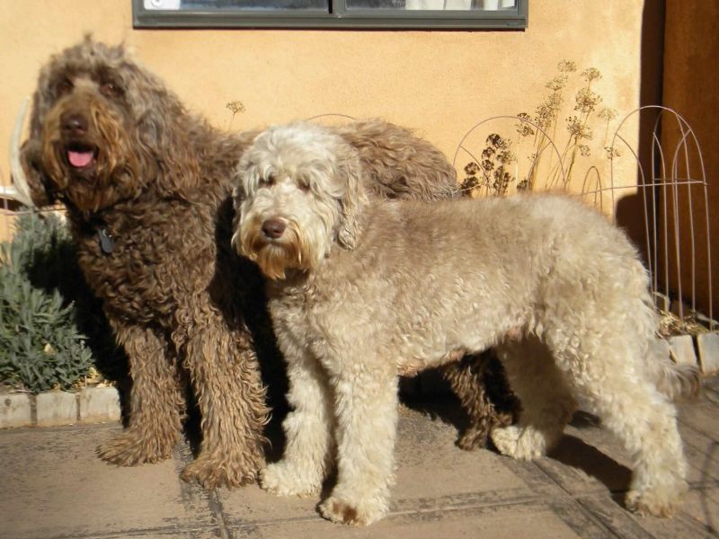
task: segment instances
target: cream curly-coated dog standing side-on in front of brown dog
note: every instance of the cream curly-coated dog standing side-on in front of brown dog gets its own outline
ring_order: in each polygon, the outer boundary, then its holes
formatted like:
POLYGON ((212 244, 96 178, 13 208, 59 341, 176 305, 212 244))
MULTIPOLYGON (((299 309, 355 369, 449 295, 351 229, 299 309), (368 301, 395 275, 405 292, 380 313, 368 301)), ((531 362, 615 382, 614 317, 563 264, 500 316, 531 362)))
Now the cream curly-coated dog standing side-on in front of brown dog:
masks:
POLYGON ((294 407, 262 487, 315 494, 336 458, 320 511, 377 521, 398 374, 498 345, 523 407, 493 430, 503 454, 544 455, 581 404, 634 455, 627 506, 670 515, 687 465, 668 397, 696 371, 652 358, 647 274, 626 236, 560 196, 377 204, 361 174, 351 146, 307 124, 263 132, 238 167, 233 242, 270 278, 294 407))

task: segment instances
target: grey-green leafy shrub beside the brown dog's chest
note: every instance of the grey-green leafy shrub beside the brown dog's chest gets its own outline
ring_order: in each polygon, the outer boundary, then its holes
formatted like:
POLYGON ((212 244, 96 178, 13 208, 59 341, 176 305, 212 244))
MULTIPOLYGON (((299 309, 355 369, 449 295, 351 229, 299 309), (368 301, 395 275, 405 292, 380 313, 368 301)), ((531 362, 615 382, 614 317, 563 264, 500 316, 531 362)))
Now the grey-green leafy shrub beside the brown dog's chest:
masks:
POLYGON ((67 389, 91 367, 118 379, 126 360, 84 285, 66 225, 29 213, 15 228, 0 252, 0 382, 67 389))

